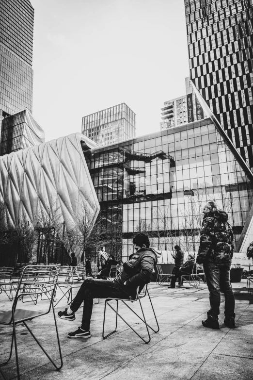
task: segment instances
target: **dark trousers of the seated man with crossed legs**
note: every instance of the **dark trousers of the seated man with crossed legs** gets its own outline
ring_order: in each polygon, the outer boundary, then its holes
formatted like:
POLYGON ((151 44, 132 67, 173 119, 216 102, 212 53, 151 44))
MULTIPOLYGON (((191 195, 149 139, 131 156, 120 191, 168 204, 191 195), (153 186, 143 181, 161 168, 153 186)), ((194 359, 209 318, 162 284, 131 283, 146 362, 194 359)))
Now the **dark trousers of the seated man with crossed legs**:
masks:
POLYGON ((82 324, 81 328, 83 330, 90 330, 92 309, 93 309, 93 298, 123 298, 126 299, 128 296, 124 293, 118 285, 113 281, 108 280, 95 280, 86 279, 80 286, 80 289, 73 299, 70 309, 73 312, 78 311, 79 307, 83 302, 83 312, 82 312, 82 324))

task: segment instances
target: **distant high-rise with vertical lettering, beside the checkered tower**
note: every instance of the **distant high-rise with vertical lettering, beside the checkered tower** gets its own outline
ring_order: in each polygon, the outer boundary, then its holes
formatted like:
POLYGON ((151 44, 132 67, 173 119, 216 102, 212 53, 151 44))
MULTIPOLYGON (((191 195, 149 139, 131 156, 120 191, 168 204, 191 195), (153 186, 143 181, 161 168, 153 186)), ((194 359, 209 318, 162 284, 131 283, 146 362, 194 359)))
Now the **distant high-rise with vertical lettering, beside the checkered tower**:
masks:
POLYGON ((206 118, 206 114, 195 96, 190 77, 185 79, 185 87, 186 95, 164 102, 163 108, 161 108, 163 121, 160 122, 160 131, 206 118))

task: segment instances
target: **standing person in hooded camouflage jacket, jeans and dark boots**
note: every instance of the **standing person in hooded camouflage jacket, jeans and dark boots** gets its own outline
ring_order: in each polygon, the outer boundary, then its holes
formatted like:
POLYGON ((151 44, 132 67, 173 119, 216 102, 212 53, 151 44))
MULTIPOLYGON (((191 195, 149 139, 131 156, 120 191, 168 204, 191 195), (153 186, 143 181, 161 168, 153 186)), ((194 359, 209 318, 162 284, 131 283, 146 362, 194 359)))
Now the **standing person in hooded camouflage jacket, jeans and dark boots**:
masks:
POLYGON ((235 327, 235 297, 230 283, 229 271, 233 257, 233 231, 228 215, 219 210, 216 203, 209 201, 203 210, 200 245, 196 262, 203 264, 206 283, 210 293, 210 310, 204 327, 219 329, 221 288, 225 295, 224 324, 235 327))

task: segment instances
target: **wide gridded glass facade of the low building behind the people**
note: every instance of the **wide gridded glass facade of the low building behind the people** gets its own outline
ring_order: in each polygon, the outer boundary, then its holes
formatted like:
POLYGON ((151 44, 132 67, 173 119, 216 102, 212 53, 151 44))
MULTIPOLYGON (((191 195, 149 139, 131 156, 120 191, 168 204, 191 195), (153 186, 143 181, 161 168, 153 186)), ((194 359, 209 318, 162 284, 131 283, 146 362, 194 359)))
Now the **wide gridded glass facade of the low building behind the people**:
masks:
POLYGON ((202 209, 215 200, 239 239, 253 203, 253 184, 211 119, 84 152, 101 216, 122 231, 123 260, 131 238, 148 231, 152 244, 194 251, 202 209))

